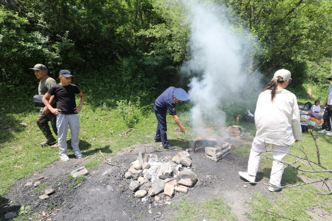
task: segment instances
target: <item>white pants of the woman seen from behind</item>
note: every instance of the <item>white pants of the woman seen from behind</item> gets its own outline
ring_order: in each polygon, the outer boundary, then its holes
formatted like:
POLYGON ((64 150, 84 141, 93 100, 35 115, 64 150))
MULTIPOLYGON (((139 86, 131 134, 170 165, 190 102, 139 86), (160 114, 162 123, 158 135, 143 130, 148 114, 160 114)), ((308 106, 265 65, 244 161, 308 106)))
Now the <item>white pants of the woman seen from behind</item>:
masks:
MULTIPOLYGON (((252 147, 250 150, 249 160, 248 160, 248 174, 249 175, 256 176, 257 171, 258 171, 259 160, 261 159, 261 156, 262 156, 262 154, 259 152, 264 152, 265 146, 267 147, 268 145, 269 145, 268 143, 259 141, 256 139, 256 137, 254 138, 254 141, 252 142, 252 147)), ((271 148, 267 147, 267 149, 271 149, 271 148)), ((284 152, 288 153, 290 147, 272 144, 272 149, 278 150, 278 151, 284 151, 284 152)), ((285 160, 286 153, 272 151, 273 158, 275 160, 279 160, 279 161, 285 160)), ((271 176, 270 176, 270 183, 275 186, 281 186, 280 181, 281 181, 281 177, 283 176, 283 173, 284 173, 284 164, 280 163, 278 161, 273 161, 271 176)))

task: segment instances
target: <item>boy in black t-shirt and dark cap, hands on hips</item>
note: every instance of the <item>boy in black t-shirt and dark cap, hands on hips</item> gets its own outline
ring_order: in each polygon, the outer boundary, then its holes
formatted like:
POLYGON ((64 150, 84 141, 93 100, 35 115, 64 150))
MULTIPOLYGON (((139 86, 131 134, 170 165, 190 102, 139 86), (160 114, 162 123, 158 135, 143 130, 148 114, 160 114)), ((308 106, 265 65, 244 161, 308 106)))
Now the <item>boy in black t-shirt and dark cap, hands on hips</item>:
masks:
POLYGON ((82 154, 78 147, 80 132, 80 121, 78 113, 81 111, 85 96, 74 84, 70 84, 73 75, 68 70, 61 70, 59 72, 60 84, 52 86, 42 98, 45 106, 56 115, 56 127, 58 129, 58 146, 59 154, 62 161, 69 161, 67 156, 67 132, 68 124, 71 134, 71 146, 75 156, 80 159, 82 154), (76 107, 75 94, 81 97, 80 105, 76 107), (56 108, 52 108, 49 104, 50 97, 54 95, 56 101, 56 108))

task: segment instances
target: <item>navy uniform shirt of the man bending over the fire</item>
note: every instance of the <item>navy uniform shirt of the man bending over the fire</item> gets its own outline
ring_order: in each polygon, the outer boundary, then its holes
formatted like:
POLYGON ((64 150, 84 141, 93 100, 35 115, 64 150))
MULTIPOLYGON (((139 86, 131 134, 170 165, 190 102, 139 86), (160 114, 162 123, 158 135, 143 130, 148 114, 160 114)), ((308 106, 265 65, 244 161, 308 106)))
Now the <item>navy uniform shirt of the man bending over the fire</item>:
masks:
POLYGON ((173 99, 173 92, 175 89, 175 87, 169 87, 161 95, 159 95, 159 97, 156 99, 156 102, 154 103, 158 110, 168 110, 170 115, 176 115, 175 102, 173 99))

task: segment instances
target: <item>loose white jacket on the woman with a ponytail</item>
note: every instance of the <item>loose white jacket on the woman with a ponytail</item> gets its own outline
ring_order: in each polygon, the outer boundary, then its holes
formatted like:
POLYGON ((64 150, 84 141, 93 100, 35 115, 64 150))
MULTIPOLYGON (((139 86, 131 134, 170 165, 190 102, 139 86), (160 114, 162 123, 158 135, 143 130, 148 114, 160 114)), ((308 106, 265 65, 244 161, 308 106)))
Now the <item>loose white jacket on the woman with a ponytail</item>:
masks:
POLYGON ((300 140, 302 130, 296 96, 286 89, 278 90, 272 102, 271 90, 263 91, 257 100, 255 124, 259 141, 284 146, 300 140))

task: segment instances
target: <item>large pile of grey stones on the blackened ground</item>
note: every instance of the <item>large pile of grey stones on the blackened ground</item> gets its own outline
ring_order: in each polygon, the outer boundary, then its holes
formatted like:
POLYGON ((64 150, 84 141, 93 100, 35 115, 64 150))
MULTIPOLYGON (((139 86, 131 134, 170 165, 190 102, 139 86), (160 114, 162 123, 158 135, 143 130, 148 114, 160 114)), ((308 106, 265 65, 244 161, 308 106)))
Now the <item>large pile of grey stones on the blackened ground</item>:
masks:
MULTIPOLYGON (((188 192, 196 184, 197 175, 191 171, 191 157, 187 151, 176 156, 158 158, 155 154, 138 153, 137 160, 130 164, 124 174, 131 179, 129 189, 135 197, 156 196, 163 193, 170 199, 176 192, 188 192)), ((143 200, 142 200, 143 201, 143 200)))

